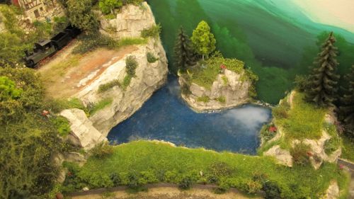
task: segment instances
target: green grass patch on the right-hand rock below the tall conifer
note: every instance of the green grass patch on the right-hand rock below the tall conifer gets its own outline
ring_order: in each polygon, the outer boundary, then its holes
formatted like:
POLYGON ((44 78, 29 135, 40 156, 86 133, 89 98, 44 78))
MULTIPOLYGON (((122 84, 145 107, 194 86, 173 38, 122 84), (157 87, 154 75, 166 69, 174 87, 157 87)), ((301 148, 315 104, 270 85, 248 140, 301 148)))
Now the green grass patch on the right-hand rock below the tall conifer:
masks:
POLYGON ((275 115, 275 123, 285 131, 287 140, 319 139, 322 135, 327 110, 306 103, 303 98, 304 93, 296 93, 287 114, 282 118, 275 115))

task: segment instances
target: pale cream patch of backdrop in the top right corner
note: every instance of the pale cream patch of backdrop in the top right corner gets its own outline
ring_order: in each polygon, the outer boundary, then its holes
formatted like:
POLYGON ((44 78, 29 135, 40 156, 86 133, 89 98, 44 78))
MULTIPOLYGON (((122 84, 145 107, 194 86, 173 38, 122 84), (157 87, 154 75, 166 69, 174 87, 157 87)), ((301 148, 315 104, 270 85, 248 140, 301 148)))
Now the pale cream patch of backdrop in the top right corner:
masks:
POLYGON ((312 21, 334 25, 354 33, 353 0, 291 0, 312 21))

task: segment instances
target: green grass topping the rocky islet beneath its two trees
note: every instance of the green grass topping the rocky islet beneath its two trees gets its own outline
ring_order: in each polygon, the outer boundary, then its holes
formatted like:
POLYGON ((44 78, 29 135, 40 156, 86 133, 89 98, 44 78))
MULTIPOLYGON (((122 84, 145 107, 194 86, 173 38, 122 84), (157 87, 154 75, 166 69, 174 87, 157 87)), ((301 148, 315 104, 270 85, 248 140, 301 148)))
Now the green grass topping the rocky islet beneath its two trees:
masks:
MULTIPOLYGON (((210 57, 205 61, 205 69, 202 69, 201 66, 194 67, 191 72, 192 81, 199 86, 205 87, 205 89, 211 89, 212 83, 217 78, 219 74, 220 65, 224 64, 227 69, 241 74, 244 72, 244 62, 239 61, 238 59, 225 59, 224 57, 210 57)), ((246 73, 245 73, 246 74, 246 73)), ((246 79, 246 78, 245 78, 246 79)))

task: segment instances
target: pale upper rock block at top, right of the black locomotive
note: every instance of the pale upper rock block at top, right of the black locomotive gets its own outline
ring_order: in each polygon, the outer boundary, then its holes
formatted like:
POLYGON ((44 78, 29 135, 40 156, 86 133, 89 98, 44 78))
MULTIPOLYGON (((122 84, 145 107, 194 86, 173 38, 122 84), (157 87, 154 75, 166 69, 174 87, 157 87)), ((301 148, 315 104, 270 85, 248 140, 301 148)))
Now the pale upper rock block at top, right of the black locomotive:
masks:
POLYGON ((101 33, 114 38, 138 38, 142 30, 155 25, 154 16, 147 2, 142 6, 127 5, 116 18, 101 20, 101 33))

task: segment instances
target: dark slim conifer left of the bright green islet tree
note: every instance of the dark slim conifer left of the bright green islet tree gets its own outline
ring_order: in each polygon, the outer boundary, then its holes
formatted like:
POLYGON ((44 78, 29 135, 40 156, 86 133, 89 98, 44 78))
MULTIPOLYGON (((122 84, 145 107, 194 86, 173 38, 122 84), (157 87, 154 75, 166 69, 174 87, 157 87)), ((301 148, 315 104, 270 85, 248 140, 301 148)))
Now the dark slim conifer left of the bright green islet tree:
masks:
POLYGON ((193 47, 190 43, 188 35, 185 34, 185 31, 182 27, 180 28, 176 38, 174 56, 175 64, 179 69, 181 69, 182 72, 185 72, 188 66, 195 64, 193 47))

